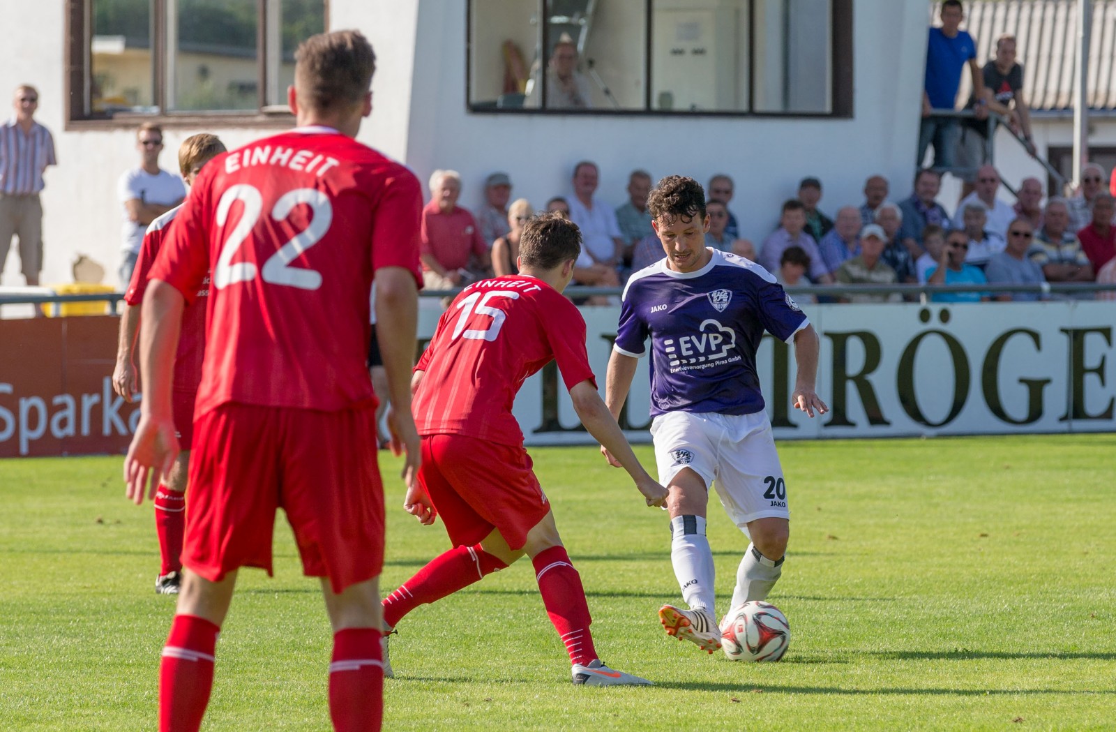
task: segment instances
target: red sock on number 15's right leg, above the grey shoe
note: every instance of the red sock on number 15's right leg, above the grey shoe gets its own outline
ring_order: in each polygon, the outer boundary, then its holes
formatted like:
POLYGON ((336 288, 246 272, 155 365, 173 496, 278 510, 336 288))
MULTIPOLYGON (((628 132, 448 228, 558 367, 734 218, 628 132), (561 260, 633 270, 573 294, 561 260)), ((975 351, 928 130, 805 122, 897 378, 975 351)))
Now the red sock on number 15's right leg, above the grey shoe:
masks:
POLYGON ((589 605, 585 601, 581 576, 569 564, 565 547, 550 547, 532 560, 542 604, 558 636, 566 644, 570 663, 587 665, 597 657, 589 633, 589 605))

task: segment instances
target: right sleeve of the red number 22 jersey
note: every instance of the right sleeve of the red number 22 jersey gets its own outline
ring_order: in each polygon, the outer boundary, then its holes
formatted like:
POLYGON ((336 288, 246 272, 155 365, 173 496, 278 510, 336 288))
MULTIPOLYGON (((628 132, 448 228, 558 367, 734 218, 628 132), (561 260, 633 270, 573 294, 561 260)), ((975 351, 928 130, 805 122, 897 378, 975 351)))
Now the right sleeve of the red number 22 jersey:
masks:
POLYGON ((387 179, 376 206, 372 231, 373 270, 402 267, 415 278, 422 289, 422 267, 419 263, 420 240, 425 227, 422 218, 422 190, 411 171, 401 168, 387 179))

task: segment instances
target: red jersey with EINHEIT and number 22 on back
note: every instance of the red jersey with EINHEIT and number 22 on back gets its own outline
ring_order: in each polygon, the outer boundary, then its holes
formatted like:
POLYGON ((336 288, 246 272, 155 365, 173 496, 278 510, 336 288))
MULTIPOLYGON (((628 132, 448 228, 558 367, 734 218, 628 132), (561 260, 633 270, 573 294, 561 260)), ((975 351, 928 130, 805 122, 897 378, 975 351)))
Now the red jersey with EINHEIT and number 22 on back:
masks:
POLYGON ((213 158, 151 270, 192 302, 212 263, 196 415, 375 404, 368 292, 382 267, 421 283, 421 210, 411 171, 328 127, 213 158))

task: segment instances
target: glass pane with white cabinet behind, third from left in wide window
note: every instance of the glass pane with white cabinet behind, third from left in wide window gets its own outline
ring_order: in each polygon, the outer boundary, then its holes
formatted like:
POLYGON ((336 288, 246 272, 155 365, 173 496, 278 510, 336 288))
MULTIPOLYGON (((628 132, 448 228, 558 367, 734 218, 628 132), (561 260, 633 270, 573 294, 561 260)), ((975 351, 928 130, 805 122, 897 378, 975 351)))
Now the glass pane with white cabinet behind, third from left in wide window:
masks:
POLYGON ((748 112, 748 0, 654 0, 651 108, 748 112))

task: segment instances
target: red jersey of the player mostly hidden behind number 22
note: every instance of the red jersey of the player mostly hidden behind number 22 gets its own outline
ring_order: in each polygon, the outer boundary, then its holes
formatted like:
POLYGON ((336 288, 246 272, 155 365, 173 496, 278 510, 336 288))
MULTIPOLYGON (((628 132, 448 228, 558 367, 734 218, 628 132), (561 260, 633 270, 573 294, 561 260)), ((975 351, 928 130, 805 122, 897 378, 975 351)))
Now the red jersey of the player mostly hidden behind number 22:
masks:
MULTIPOLYGON (((171 222, 177 215, 181 205, 176 205, 151 222, 147 233, 143 235, 140 247, 140 258, 132 270, 132 281, 124 293, 124 301, 132 307, 143 305, 143 293, 147 291, 147 278, 151 266, 155 263, 171 222)), ((198 393, 202 381, 202 357, 205 355, 205 302, 209 297, 209 273, 202 280, 193 305, 187 305, 182 311, 182 330, 179 334, 179 350, 174 354, 174 391, 190 394, 198 393)))

